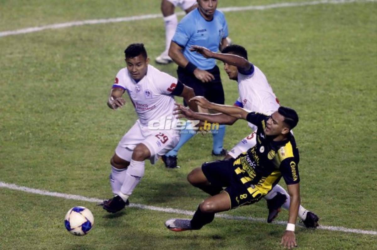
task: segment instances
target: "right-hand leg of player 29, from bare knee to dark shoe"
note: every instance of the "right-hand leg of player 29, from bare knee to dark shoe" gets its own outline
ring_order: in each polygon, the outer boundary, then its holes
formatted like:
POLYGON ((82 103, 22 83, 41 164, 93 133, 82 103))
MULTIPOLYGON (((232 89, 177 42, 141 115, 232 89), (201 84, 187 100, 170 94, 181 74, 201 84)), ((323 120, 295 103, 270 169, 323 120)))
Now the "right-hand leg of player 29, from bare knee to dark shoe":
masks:
MULTIPOLYGON (((141 178, 144 176, 144 160, 150 158, 150 151, 143 143, 136 145, 133 149, 131 161, 127 167, 124 181, 118 195, 103 203, 103 209, 109 213, 116 213, 128 206, 128 197, 132 194, 141 178)), ((118 160, 117 158, 115 160, 118 160)))

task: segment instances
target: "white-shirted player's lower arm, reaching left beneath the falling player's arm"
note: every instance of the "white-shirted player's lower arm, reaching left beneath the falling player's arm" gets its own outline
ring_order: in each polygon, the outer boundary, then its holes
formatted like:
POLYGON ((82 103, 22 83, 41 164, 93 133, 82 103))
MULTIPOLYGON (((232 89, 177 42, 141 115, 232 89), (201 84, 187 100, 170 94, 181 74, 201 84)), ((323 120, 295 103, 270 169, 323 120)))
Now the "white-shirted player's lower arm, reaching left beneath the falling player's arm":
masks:
POLYGON ((176 103, 176 108, 174 109, 174 115, 178 115, 178 118, 187 118, 189 120, 199 120, 207 121, 208 123, 219 123, 232 125, 237 118, 231 117, 230 115, 225 115, 222 113, 218 114, 208 114, 208 113, 198 113, 193 112, 191 109, 183 106, 182 104, 176 103))

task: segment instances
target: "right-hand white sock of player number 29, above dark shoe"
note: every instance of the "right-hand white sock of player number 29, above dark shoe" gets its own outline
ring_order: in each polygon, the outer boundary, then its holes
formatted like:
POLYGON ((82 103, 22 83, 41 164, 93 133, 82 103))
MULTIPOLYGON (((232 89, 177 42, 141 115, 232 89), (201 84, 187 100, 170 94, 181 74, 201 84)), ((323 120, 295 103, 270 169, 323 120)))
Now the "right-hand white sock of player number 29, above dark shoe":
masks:
POLYGON ((127 200, 128 196, 132 194, 137 184, 139 184, 141 178, 144 176, 145 162, 131 160, 130 166, 126 170, 126 176, 124 178, 123 184, 118 193, 124 201, 127 200), (127 197, 126 197, 127 196, 127 197))

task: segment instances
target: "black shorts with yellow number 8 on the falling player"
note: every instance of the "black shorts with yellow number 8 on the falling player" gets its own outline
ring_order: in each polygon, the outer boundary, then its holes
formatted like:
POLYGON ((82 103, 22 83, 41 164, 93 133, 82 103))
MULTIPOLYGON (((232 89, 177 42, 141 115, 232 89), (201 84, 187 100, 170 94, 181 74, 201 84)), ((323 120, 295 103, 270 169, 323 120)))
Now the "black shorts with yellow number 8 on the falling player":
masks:
POLYGON ((211 161, 202 164, 202 171, 207 180, 216 187, 225 187, 230 198, 231 209, 250 205, 259 201, 263 196, 254 197, 241 183, 233 169, 234 159, 211 161))

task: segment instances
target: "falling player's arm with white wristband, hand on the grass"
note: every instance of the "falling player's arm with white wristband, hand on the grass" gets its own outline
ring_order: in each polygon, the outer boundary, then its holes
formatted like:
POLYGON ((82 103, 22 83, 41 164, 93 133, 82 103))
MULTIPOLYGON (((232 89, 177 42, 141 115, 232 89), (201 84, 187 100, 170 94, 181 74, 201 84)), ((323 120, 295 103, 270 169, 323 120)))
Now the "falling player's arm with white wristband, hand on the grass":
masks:
POLYGON ((299 213, 300 206, 300 184, 287 185, 288 194, 291 198, 289 205, 289 215, 287 230, 285 230, 282 237, 281 245, 291 249, 297 247, 296 236, 294 235, 294 225, 296 224, 297 214, 299 213))

